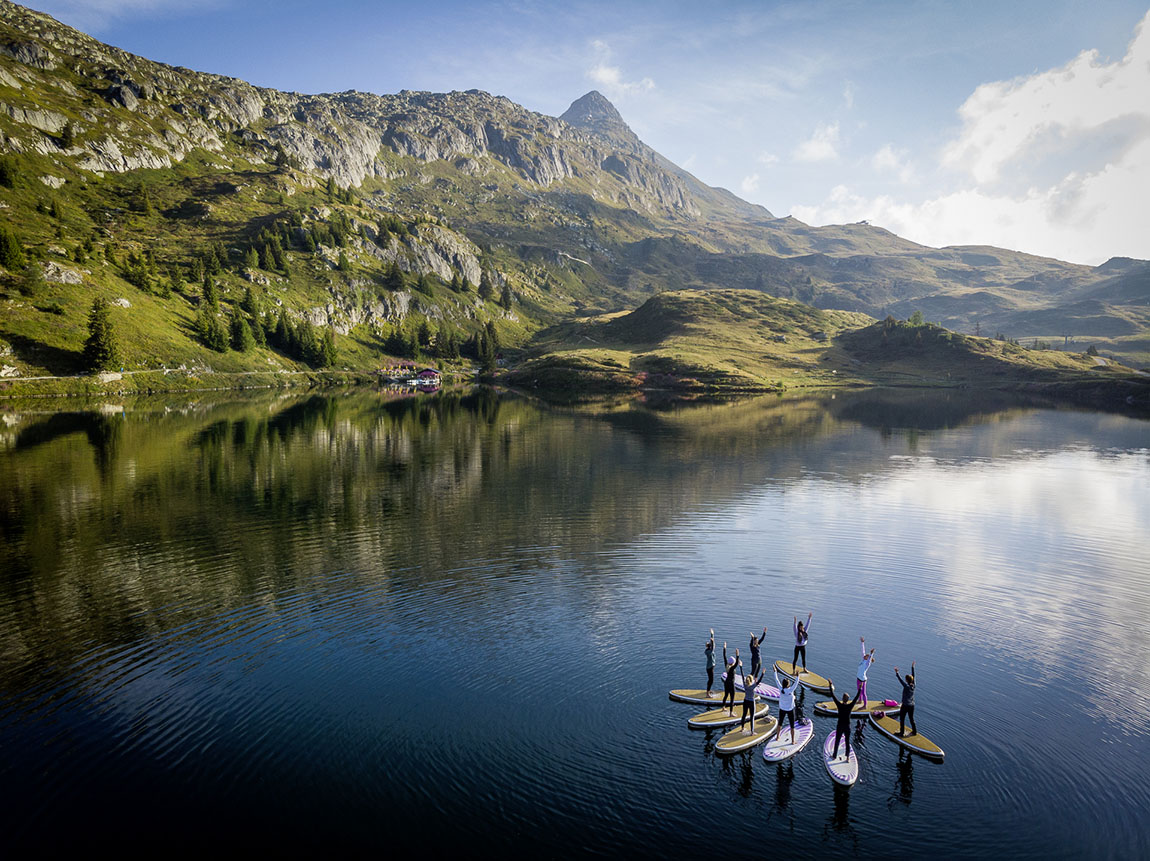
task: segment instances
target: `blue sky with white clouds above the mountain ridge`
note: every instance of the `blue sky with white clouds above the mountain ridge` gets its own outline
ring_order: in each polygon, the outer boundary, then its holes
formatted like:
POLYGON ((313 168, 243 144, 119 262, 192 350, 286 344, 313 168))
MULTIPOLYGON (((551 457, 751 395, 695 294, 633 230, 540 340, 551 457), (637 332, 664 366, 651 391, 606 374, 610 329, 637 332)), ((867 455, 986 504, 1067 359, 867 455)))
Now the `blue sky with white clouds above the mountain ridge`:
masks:
POLYGON ((1148 0, 33 0, 298 92, 589 90, 710 185, 933 246, 1150 259, 1148 0))

